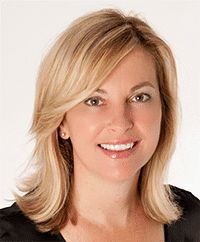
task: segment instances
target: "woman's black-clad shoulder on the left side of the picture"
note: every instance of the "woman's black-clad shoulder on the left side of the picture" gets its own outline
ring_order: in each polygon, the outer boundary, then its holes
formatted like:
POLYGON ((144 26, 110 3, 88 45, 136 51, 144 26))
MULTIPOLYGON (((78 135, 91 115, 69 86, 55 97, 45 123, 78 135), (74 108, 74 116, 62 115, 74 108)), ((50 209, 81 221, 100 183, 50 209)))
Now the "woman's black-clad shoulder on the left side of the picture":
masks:
POLYGON ((16 203, 0 209, 0 242, 1 241, 59 241, 50 233, 41 233, 35 224, 26 217, 16 203))

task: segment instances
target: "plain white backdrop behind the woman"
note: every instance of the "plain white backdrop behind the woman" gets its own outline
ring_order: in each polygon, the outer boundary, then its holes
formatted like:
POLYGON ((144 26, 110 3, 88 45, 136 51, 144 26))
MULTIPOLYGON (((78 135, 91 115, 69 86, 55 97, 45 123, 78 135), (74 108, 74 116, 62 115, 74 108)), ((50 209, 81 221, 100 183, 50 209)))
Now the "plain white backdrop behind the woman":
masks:
POLYGON ((12 203, 12 190, 31 157, 28 129, 41 59, 72 20, 101 8, 139 14, 172 48, 182 120, 166 182, 200 198, 199 1, 2 1, 0 207, 12 203))

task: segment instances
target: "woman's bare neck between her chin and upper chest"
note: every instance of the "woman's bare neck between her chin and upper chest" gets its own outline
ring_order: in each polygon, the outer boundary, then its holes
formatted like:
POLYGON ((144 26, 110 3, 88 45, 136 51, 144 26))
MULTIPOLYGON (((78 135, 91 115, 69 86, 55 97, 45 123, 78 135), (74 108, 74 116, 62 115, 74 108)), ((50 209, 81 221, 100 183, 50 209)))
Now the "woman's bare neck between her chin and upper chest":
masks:
MULTIPOLYGON (((131 180, 113 182, 74 169, 73 207, 77 219, 104 226, 127 226, 139 207, 139 171, 131 180)), ((80 171, 80 169, 79 169, 80 171)))

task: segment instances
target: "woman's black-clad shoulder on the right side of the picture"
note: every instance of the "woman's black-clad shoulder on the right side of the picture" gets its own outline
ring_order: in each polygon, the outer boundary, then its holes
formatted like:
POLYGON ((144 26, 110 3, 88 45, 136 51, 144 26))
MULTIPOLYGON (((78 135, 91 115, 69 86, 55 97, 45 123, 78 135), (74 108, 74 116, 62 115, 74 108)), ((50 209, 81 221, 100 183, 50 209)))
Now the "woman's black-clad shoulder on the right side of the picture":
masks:
POLYGON ((200 200, 187 190, 171 185, 170 188, 183 214, 176 222, 168 225, 169 235, 174 241, 181 236, 181 241, 200 241, 200 200))

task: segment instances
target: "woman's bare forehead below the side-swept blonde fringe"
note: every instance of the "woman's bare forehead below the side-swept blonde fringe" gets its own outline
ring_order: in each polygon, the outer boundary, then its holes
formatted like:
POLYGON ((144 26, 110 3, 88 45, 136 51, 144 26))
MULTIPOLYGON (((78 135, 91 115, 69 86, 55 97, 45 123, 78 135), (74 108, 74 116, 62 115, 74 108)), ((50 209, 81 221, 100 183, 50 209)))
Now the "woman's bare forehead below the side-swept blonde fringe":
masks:
POLYGON ((145 84, 157 86, 155 62, 148 51, 136 48, 118 63, 97 90, 103 92, 104 88, 117 86, 123 90, 127 86, 145 84))

